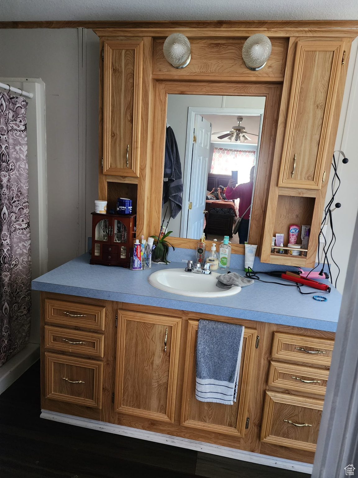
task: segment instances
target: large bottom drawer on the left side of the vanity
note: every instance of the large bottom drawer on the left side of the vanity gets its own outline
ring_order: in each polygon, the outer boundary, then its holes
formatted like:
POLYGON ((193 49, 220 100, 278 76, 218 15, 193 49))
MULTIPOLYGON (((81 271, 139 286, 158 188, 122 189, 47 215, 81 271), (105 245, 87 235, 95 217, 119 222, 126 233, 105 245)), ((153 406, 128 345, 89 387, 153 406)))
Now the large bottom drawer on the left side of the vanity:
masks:
POLYGON ((103 363, 45 352, 45 397, 102 408, 103 363))

